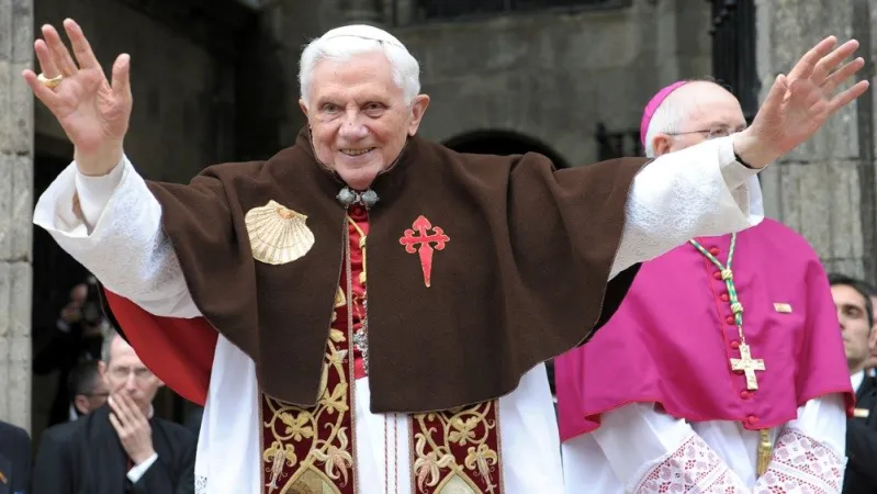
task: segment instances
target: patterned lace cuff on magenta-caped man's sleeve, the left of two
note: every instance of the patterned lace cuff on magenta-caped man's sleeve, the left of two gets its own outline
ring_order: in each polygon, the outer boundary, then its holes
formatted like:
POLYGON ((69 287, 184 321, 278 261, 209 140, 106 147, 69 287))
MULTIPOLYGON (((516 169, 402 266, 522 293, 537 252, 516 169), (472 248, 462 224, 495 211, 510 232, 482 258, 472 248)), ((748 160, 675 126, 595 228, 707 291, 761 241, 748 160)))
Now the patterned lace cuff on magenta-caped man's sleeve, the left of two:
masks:
POLYGON ((737 474, 696 434, 637 479, 630 491, 636 494, 749 494, 737 474))

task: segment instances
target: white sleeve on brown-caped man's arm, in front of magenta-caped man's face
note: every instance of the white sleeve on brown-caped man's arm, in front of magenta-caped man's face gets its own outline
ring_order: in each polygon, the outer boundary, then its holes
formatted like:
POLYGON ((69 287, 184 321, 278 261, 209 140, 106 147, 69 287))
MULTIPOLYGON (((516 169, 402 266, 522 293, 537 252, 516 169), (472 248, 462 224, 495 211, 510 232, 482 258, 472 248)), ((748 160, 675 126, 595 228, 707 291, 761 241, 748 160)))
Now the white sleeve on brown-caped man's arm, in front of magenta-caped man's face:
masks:
POLYGON ((733 136, 656 158, 633 180, 610 278, 697 236, 724 235, 764 218, 756 177, 734 158, 733 136))

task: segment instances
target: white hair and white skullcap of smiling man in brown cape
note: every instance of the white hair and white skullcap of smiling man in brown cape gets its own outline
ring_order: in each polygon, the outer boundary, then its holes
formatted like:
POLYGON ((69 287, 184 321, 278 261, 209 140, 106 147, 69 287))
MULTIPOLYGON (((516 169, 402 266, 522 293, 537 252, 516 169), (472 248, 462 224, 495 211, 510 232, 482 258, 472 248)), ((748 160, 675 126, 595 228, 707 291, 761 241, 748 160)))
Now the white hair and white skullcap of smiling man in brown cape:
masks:
POLYGON ((346 61, 369 52, 382 52, 386 56, 393 69, 393 81, 402 89, 405 104, 411 104, 420 92, 420 65, 417 59, 386 31, 355 24, 328 31, 305 46, 299 63, 299 83, 305 105, 311 96, 311 78, 321 60, 346 61))

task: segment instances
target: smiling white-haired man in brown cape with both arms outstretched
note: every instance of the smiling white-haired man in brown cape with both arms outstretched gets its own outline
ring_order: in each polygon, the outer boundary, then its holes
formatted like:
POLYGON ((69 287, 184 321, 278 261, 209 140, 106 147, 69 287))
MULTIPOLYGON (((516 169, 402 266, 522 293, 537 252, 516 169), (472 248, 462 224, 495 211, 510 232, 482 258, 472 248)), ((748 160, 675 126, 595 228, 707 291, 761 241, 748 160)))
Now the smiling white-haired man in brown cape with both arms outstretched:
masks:
MULTIPOLYGON (((128 56, 110 83, 64 26, 76 61, 44 26, 42 74, 24 72, 76 147, 34 221, 101 280, 154 372, 205 404, 211 494, 561 493, 542 362, 588 339, 639 262, 757 224, 757 171, 867 88, 779 77, 744 133, 556 171, 419 137, 417 61, 351 25, 302 54, 292 147, 181 186, 124 153, 128 56)), ((832 68, 834 44, 805 61, 832 68)))

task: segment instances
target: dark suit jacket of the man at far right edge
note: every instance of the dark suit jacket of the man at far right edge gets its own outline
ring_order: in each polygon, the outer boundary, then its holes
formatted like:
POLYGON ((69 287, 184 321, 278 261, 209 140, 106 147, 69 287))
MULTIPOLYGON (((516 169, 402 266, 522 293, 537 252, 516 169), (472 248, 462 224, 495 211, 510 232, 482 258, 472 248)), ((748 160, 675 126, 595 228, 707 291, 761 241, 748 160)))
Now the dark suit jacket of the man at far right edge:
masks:
POLYGON ((843 494, 877 493, 877 378, 865 377, 856 392, 856 409, 867 417, 846 423, 846 475, 843 494))

